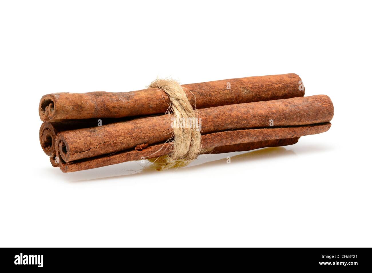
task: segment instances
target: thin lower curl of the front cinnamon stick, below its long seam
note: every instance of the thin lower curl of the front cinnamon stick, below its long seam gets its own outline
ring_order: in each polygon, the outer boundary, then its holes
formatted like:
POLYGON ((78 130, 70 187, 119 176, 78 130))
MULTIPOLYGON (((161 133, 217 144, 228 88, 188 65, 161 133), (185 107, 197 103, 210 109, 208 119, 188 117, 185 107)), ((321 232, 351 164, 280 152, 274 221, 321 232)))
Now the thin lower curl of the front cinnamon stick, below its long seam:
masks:
MULTIPOLYGON (((202 135, 202 151, 205 153, 206 150, 216 149, 215 147, 235 145, 240 143, 248 142, 262 142, 277 139, 290 139, 310 134, 319 134, 327 131, 331 127, 330 123, 314 124, 306 126, 294 126, 294 127, 278 127, 278 128, 264 128, 264 129, 246 129, 236 131, 222 131, 211 134, 202 135)), ((275 143, 275 142, 274 142, 275 143)), ((252 144, 252 147, 264 147, 264 143, 252 144)), ((269 142, 269 145, 275 145, 269 142)), ((250 144, 244 146, 249 150, 250 144)), ((148 146, 143 150, 129 150, 124 152, 118 152, 111 155, 102 155, 93 158, 76 160, 73 162, 65 162, 61 157, 60 151, 57 150, 57 156, 59 158, 59 166, 62 172, 75 172, 78 170, 86 170, 99 168, 103 166, 118 164, 127 161, 141 160, 147 158, 154 158, 162 155, 167 155, 172 148, 172 143, 161 143, 148 146)), ((232 147, 234 151, 234 147, 232 147)), ((227 148, 223 148, 227 149, 227 148)), ((253 148, 257 149, 257 148, 253 148)), ((218 149, 217 149, 218 151, 218 149)), ((223 151, 223 150, 222 150, 223 151)), ((222 152, 221 151, 221 152, 222 152)))

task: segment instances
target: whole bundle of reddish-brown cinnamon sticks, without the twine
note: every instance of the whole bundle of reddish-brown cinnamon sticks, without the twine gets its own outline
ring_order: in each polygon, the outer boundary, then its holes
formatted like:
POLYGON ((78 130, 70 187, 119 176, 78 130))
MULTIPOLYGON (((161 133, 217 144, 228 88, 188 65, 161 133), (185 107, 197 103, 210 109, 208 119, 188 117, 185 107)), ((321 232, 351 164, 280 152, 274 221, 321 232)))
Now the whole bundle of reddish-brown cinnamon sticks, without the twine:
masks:
MULTIPOLYGON (((304 97, 296 74, 182 85, 198 115, 200 153, 292 145, 327 131, 327 95, 304 97)), ((74 172, 156 158, 173 149, 169 96, 160 88, 132 92, 54 93, 39 104, 39 138, 52 166, 74 172)))

